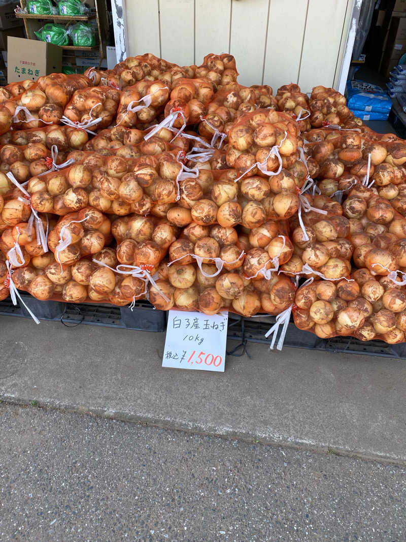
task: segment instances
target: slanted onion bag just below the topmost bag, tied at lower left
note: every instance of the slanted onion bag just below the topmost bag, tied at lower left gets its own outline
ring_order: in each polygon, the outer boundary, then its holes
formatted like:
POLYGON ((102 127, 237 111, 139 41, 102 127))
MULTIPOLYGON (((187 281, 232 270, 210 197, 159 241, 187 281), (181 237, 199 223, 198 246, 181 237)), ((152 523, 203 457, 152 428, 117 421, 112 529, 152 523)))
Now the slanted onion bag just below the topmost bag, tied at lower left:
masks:
MULTIPOLYGON (((272 89, 271 89, 272 91, 272 89)), ((243 87, 237 82, 230 83, 217 91, 207 107, 207 114, 200 122, 198 131, 212 138, 215 130, 228 134, 228 131, 245 113, 256 109, 256 93, 253 88, 243 87)))

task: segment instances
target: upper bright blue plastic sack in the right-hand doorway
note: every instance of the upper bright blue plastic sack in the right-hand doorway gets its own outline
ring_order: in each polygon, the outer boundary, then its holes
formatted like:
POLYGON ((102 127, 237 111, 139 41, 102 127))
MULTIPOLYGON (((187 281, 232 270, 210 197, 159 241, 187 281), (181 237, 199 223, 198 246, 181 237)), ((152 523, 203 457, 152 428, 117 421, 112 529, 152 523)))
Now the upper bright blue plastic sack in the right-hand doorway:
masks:
MULTIPOLYGON (((388 116, 392 107, 392 100, 381 87, 366 83, 365 81, 348 81, 347 93, 347 107, 355 115, 356 111, 363 111, 366 113, 386 113, 388 116)), ((358 115, 356 116, 358 117, 358 115)))

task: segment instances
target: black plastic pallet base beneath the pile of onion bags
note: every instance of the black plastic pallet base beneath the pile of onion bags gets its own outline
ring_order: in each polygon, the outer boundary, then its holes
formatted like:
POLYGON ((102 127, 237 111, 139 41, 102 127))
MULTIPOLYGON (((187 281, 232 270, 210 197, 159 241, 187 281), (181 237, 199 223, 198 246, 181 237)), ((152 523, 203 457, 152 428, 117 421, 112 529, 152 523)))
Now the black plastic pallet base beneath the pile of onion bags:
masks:
MULTIPOLYGON (((62 324, 68 327, 84 324, 138 331, 162 332, 166 330, 166 312, 156 311, 148 301, 137 302, 133 311, 130 311, 129 307, 115 307, 113 305, 75 305, 59 303, 57 301, 38 301, 30 295, 25 294, 22 295, 22 298, 38 319, 61 321, 62 324)), ((19 305, 14 306, 10 298, 0 301, 1 314, 31 318, 24 307, 21 308, 19 305)), ((274 322, 275 317, 272 316, 267 317, 264 315, 260 318, 244 318, 229 313, 227 338, 239 341, 241 345, 246 345, 247 342, 270 344, 271 341, 265 337, 265 333, 274 322)), ((314 333, 299 330, 293 322, 290 322, 287 327, 284 346, 307 350, 406 359, 406 343, 390 345, 379 340, 364 343, 353 337, 320 339, 314 333)))

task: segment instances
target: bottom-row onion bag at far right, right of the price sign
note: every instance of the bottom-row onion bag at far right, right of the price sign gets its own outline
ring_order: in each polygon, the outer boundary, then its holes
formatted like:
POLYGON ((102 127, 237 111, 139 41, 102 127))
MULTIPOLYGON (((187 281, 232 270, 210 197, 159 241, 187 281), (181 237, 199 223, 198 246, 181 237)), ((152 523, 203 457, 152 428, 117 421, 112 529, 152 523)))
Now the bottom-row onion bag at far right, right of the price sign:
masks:
POLYGON ((320 280, 298 289, 296 326, 326 339, 343 335, 396 344, 405 340, 406 289, 357 269, 349 280, 320 280), (378 279, 378 280, 377 280, 378 279))

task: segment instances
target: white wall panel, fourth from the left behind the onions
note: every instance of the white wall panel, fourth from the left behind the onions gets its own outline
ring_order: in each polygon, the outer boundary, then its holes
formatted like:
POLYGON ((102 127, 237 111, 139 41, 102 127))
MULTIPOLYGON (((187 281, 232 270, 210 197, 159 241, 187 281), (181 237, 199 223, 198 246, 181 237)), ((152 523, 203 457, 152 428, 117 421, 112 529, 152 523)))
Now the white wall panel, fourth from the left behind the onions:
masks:
POLYGON ((233 0, 230 53, 237 61, 241 85, 262 83, 270 1, 233 0))

